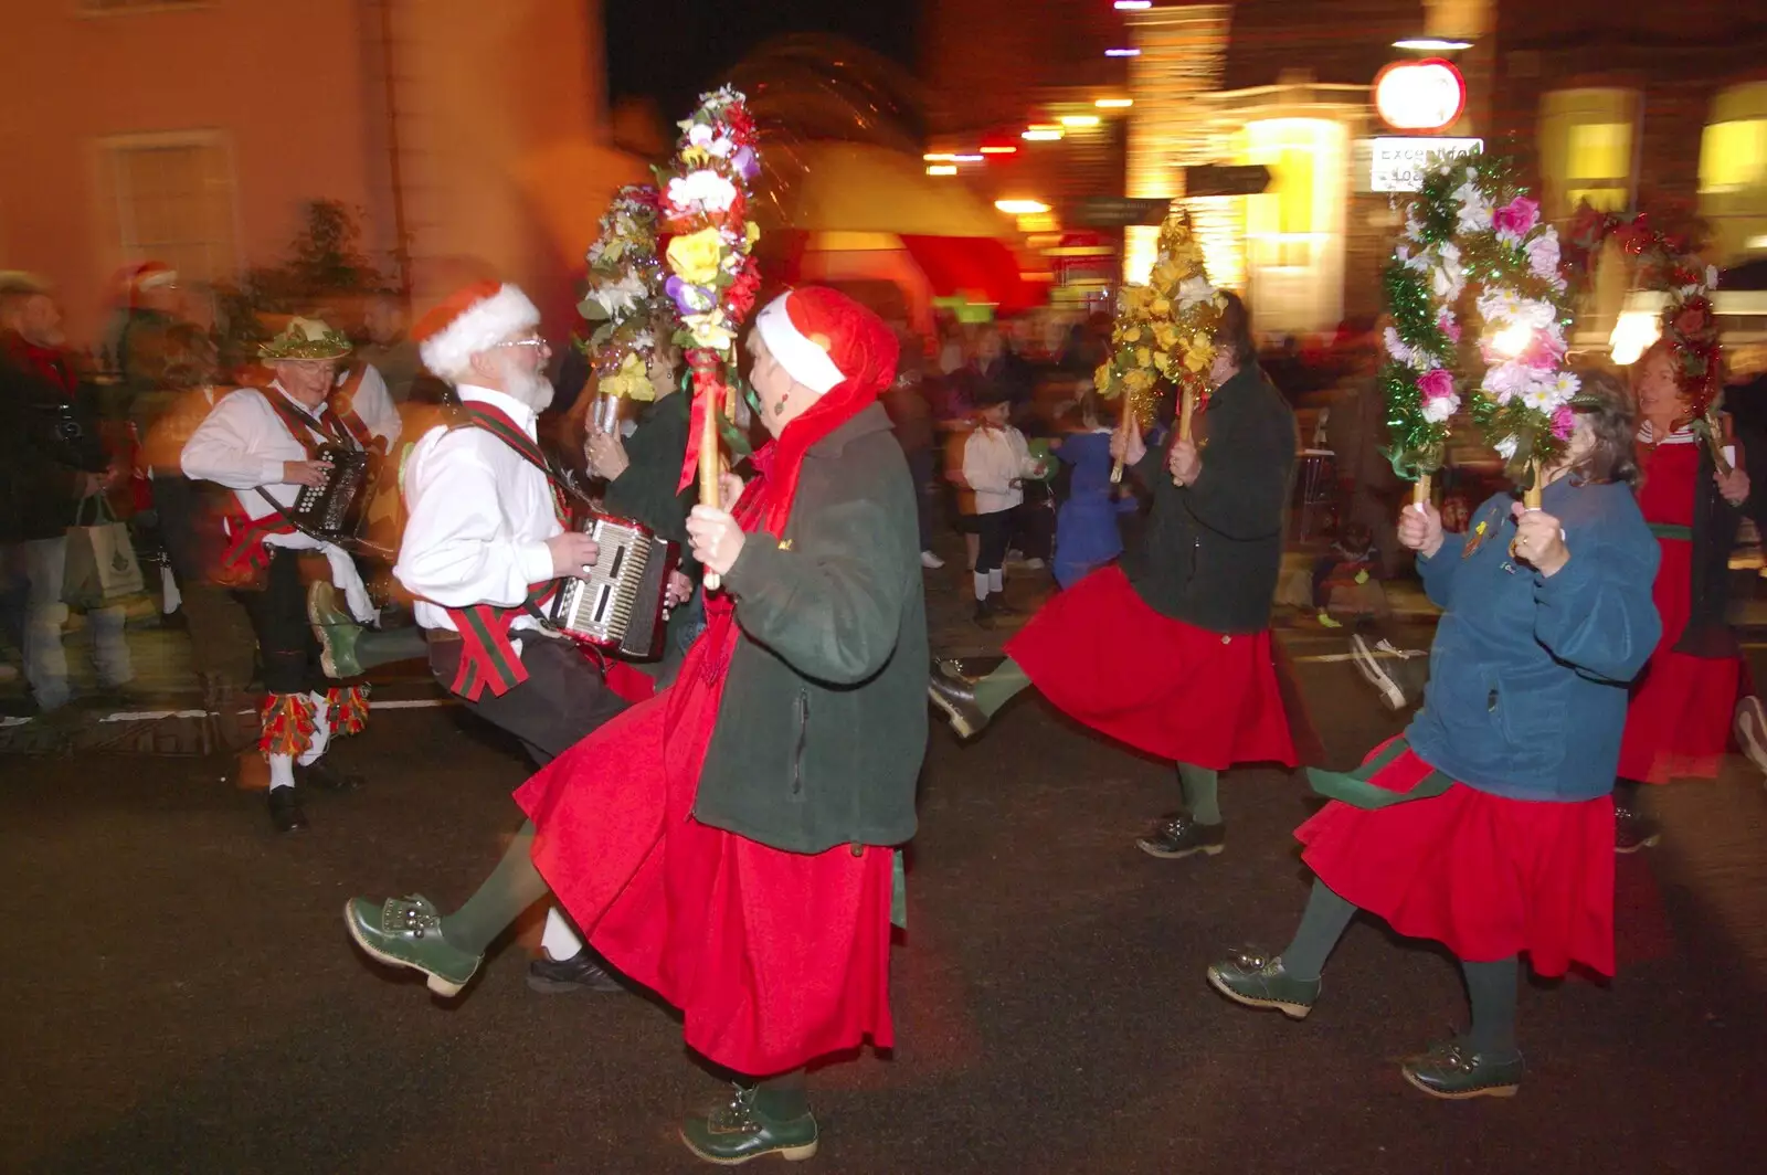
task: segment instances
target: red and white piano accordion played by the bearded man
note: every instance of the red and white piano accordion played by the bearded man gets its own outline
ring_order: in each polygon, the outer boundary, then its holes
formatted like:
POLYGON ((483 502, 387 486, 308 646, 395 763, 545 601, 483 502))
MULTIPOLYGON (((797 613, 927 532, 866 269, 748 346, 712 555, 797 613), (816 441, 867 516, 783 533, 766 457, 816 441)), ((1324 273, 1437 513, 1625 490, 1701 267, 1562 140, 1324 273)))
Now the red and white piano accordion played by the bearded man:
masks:
POLYGON ((601 553, 588 578, 564 581, 553 599, 553 627, 603 652, 638 661, 659 656, 663 601, 680 551, 629 518, 592 514, 583 530, 601 553))

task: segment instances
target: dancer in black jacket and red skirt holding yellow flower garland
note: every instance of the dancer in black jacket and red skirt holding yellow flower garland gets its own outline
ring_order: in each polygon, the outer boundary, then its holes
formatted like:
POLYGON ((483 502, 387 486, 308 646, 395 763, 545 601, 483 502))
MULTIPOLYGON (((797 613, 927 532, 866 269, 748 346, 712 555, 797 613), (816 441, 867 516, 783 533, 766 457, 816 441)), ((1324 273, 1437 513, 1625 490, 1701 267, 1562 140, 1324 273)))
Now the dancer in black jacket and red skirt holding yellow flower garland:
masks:
POLYGON ((1232 293, 1210 380, 1216 390, 1200 417, 1207 442, 1173 440, 1164 454, 1150 452, 1138 426, 1111 442, 1111 454, 1154 491, 1133 571, 1103 567, 1055 595, 988 677, 935 671, 929 686, 933 705, 965 739, 1034 684, 1099 733, 1175 760, 1184 807, 1136 841, 1170 859, 1226 846, 1221 770, 1260 760, 1295 765, 1270 640, 1295 419, 1258 369, 1251 316, 1232 293))

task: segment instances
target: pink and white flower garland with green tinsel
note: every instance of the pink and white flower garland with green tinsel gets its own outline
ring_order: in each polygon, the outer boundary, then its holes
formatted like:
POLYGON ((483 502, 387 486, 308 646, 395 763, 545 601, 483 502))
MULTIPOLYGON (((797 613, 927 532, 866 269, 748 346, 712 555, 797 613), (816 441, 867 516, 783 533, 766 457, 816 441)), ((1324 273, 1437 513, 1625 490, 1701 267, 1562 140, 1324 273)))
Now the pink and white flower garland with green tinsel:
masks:
POLYGON ((1566 368, 1569 286, 1558 233, 1509 159, 1474 154, 1426 171, 1385 272, 1387 422, 1394 472, 1440 468, 1467 392, 1474 422, 1539 509, 1543 463, 1571 435, 1580 382, 1566 368))

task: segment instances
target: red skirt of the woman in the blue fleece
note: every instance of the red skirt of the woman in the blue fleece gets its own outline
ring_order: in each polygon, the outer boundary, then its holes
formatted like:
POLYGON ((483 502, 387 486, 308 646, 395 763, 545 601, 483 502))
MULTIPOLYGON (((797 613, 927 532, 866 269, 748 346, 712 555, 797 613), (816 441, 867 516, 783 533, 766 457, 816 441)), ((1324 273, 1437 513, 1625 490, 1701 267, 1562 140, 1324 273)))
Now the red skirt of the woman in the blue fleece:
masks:
MULTIPOLYGON (((1407 749, 1369 783, 1403 793, 1431 770, 1407 749)), ((1527 952, 1541 975, 1613 974, 1612 797, 1513 800, 1456 783, 1380 809, 1332 800, 1295 838, 1332 892, 1401 935, 1472 963, 1527 952)))

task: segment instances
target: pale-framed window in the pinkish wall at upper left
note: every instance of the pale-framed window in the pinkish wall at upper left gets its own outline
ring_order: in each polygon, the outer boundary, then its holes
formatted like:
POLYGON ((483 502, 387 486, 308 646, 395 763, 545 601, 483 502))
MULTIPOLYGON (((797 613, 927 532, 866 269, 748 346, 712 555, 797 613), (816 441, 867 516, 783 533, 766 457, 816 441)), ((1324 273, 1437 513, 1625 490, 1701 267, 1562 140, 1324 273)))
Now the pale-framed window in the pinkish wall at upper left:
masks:
POLYGON ((233 164, 219 133, 111 138, 102 154, 122 260, 163 262, 193 281, 233 276, 233 164))

